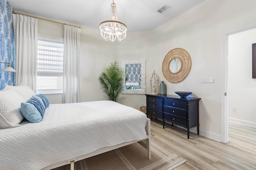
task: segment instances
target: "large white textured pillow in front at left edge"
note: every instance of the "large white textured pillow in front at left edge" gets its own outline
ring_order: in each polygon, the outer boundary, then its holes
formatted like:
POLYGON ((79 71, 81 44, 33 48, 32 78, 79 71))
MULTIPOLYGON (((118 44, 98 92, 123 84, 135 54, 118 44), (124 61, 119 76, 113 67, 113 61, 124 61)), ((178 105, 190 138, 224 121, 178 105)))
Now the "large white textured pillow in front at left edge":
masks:
POLYGON ((0 128, 18 127, 24 119, 20 104, 26 102, 22 96, 11 88, 0 91, 0 128))

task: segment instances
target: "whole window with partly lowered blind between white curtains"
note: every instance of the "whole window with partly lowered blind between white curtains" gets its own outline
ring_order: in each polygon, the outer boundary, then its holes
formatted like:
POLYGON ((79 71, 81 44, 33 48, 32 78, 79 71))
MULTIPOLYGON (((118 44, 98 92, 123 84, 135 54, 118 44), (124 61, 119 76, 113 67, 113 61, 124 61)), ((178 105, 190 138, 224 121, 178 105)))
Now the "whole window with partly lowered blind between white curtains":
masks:
POLYGON ((38 35, 37 93, 63 92, 63 37, 38 35))

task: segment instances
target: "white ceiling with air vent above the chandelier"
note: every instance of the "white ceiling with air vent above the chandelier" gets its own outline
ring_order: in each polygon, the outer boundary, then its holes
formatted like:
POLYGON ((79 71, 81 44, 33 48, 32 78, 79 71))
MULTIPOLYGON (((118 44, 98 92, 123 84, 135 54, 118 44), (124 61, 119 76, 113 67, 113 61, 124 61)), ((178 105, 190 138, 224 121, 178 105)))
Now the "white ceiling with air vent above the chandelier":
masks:
MULTIPOLYGON (((204 0, 115 0, 118 21, 128 32, 152 30, 204 0), (164 5, 168 10, 157 11, 164 5)), ((108 20, 112 0, 8 0, 14 11, 99 28, 108 20)))

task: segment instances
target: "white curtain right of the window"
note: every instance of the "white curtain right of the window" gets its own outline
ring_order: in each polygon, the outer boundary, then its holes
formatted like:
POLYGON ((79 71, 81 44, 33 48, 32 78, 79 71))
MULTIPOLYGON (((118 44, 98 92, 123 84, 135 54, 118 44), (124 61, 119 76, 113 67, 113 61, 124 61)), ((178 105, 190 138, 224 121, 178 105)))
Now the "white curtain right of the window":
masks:
POLYGON ((64 25, 63 103, 79 102, 81 29, 64 25))

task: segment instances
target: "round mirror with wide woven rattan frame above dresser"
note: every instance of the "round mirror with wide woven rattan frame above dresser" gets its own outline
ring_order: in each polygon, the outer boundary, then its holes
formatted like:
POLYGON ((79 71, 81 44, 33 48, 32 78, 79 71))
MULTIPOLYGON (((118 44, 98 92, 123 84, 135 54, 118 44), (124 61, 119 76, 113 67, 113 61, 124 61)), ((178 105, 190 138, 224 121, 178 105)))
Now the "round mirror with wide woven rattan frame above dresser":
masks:
POLYGON ((166 54, 162 64, 162 72, 166 80, 171 83, 178 83, 183 81, 188 76, 191 65, 192 61, 189 53, 182 48, 176 48, 172 49, 166 54), (172 67, 172 64, 170 63, 174 59, 180 60, 180 69, 175 73, 170 70, 170 67, 172 67))

